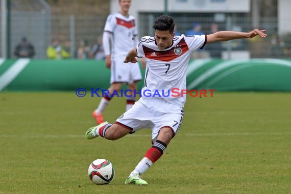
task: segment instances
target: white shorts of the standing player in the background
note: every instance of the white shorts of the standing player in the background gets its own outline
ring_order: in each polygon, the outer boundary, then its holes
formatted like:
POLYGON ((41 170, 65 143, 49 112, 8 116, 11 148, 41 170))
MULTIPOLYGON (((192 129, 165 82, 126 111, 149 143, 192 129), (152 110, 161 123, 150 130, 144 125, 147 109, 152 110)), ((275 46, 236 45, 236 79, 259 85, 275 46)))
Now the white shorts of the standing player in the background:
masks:
POLYGON ((116 82, 131 84, 142 79, 138 63, 124 63, 124 58, 111 60, 110 84, 116 82))

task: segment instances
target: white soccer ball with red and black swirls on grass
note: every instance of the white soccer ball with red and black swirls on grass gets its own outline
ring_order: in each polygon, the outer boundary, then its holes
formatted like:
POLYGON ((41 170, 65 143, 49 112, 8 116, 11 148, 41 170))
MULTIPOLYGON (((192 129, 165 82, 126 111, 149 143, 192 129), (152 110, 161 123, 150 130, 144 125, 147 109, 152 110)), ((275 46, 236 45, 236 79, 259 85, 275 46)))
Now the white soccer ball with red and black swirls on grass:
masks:
POLYGON ((114 177, 114 167, 108 160, 97 159, 89 165, 88 175, 96 185, 108 184, 114 177))

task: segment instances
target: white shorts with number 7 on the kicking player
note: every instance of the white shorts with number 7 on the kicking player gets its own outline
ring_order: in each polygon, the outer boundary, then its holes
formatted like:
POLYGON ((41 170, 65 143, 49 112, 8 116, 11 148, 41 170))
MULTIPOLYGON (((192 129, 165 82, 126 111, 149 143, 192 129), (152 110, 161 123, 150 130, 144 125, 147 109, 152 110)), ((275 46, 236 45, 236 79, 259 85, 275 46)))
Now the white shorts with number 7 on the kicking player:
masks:
POLYGON ((176 135, 183 119, 184 110, 162 98, 142 97, 131 109, 121 115, 115 122, 131 133, 144 128, 152 129, 152 141, 155 142, 161 128, 169 127, 176 135))

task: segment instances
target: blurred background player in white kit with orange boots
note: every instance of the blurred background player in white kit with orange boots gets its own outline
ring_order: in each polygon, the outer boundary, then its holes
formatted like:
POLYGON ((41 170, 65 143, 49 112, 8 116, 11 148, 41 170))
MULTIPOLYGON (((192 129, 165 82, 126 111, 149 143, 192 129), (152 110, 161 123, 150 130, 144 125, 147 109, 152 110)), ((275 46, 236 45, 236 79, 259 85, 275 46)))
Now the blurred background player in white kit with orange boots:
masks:
MULTIPOLYGON (((129 15, 131 0, 119 0, 120 12, 110 14, 104 27, 103 47, 106 55, 106 66, 111 69, 111 86, 109 94, 118 91, 123 83, 126 83, 131 91, 137 88, 137 82, 142 79, 139 66, 132 63, 124 63, 127 53, 137 45, 136 19, 129 15)), ((146 66, 145 60, 141 60, 142 66, 146 66)), ((127 92, 130 96, 131 93, 127 92)), ((97 124, 104 122, 103 112, 111 100, 110 95, 105 95, 92 113, 97 124)), ((134 97, 127 97, 126 110, 135 103, 134 97)))

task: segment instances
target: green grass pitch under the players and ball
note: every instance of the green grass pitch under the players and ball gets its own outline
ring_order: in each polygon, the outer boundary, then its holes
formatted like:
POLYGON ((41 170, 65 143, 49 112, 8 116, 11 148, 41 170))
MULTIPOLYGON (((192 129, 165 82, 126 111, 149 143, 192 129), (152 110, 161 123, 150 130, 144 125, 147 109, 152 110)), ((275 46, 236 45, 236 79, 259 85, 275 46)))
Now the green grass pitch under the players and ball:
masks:
MULTIPOLYGON (((151 147, 151 130, 117 141, 86 140, 100 98, 75 92, 0 93, 0 193, 288 193, 291 93, 219 93, 190 98, 182 126, 162 158, 124 182, 151 147), (89 164, 110 160, 115 177, 94 185, 89 164)), ((104 117, 124 112, 114 98, 104 117)))

